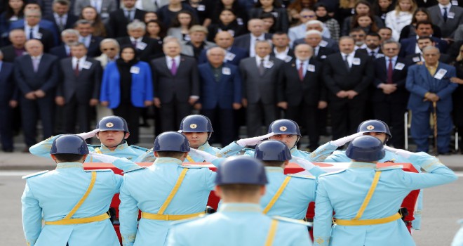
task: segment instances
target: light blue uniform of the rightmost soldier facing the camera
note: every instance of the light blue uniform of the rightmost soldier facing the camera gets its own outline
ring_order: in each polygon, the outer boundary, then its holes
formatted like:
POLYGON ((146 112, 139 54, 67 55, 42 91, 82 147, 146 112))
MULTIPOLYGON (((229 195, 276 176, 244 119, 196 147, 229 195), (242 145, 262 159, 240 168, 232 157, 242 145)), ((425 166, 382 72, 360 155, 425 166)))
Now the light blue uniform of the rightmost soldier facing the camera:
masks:
MULTIPOLYGON (((326 156, 324 162, 351 162, 351 159, 346 155, 346 150, 336 150, 337 148, 338 147, 336 145, 328 142, 317 148, 314 153, 316 153, 316 156, 326 156)), ((422 164, 429 162, 429 160, 434 160, 434 157, 424 152, 415 153, 414 155, 405 158, 401 155, 397 155, 396 153, 386 151, 384 158, 378 162, 411 163, 418 172, 421 172, 422 164)), ((420 190, 420 195, 418 195, 417 199, 417 207, 415 213, 413 214, 415 219, 412 221, 412 228, 415 230, 420 230, 421 228, 422 210, 423 190, 420 190)))

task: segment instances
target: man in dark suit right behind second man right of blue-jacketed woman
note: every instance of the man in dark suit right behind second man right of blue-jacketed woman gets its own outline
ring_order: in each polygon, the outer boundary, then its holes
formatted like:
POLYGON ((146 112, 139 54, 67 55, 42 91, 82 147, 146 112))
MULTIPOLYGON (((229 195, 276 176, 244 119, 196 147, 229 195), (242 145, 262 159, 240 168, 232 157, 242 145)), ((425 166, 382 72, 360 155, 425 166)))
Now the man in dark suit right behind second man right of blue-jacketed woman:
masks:
MULTIPOLYGON (((245 49, 233 46, 234 38, 229 32, 217 32, 217 34, 215 34, 214 41, 217 46, 227 51, 224 63, 238 66, 239 62, 243 60, 243 58, 247 58, 249 56, 245 49)), ((206 56, 206 50, 203 50, 201 51, 201 55, 199 55, 198 63, 202 64, 207 62, 208 58, 206 56)))

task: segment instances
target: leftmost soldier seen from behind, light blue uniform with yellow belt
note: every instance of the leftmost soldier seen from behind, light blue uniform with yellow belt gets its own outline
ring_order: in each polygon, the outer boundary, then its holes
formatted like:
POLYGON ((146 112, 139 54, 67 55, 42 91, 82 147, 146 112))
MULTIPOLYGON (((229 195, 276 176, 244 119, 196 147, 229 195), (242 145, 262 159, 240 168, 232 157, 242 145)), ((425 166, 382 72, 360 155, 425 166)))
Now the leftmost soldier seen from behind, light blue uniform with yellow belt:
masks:
POLYGON ((22 177, 27 245, 119 245, 107 211, 122 176, 111 169, 84 171, 88 148, 76 135, 55 138, 49 153, 57 163, 55 170, 22 177))

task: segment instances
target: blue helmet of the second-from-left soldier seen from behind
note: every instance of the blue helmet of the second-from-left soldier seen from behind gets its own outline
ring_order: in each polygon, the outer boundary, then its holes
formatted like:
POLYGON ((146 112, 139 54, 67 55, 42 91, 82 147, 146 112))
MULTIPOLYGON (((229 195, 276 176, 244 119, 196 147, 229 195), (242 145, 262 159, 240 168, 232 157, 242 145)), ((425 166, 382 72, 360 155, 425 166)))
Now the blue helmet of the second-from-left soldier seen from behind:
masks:
POLYGON ((153 151, 189 152, 189 142, 187 137, 177 131, 166 131, 154 139, 153 151))

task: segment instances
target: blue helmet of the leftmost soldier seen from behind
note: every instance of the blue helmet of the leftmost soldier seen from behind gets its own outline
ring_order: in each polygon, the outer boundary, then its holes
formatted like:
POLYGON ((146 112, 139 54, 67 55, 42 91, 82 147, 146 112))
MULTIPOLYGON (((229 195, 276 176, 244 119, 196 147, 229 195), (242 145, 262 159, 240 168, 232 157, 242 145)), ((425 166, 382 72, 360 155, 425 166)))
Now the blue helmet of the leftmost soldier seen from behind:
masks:
POLYGON ((88 147, 83 138, 73 134, 66 134, 56 138, 51 144, 50 153, 87 155, 88 147))

